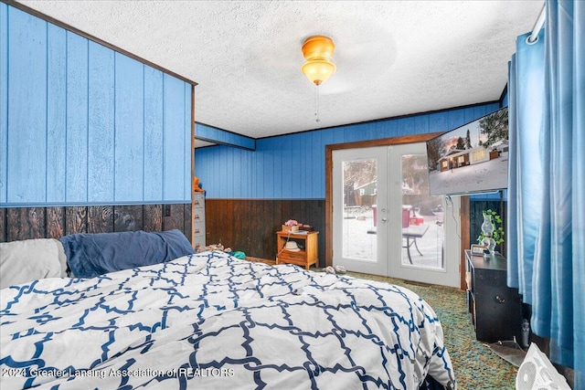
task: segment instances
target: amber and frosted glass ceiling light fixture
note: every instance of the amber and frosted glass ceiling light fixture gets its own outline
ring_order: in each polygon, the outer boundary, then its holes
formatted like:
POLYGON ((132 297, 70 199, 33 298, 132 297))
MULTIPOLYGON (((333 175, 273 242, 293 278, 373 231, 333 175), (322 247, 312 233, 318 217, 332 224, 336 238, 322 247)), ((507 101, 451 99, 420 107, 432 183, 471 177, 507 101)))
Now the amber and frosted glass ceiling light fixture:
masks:
POLYGON ((330 37, 313 36, 308 37, 301 48, 303 57, 307 60, 301 71, 315 85, 328 80, 337 69, 331 62, 335 51, 335 44, 330 37))

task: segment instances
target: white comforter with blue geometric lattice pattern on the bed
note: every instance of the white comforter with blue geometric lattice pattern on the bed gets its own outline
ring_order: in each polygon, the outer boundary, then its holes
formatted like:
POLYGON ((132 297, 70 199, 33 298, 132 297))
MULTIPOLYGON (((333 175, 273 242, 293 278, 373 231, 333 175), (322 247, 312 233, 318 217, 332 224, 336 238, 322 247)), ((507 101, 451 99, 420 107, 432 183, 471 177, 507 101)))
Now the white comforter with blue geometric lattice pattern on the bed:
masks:
POLYGON ((455 387, 414 292, 206 252, 0 290, 0 388, 455 387))

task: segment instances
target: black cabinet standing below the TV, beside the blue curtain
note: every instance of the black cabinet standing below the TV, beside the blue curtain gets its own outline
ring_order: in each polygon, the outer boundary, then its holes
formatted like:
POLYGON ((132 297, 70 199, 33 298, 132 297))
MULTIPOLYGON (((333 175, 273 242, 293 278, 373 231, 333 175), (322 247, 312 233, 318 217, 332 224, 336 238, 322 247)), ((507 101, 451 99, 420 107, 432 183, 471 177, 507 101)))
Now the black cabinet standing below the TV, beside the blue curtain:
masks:
POLYGON ((472 255, 465 250, 467 303, 477 340, 485 343, 521 340, 522 300, 506 285, 506 260, 472 255))

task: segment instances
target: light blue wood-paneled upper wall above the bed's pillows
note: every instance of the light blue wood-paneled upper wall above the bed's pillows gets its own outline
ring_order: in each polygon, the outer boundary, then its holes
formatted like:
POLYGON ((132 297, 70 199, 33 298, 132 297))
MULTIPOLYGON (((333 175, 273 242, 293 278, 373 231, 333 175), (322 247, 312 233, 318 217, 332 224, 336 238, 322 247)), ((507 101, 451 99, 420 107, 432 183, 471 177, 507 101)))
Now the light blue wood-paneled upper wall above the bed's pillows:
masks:
POLYGON ((0 3, 0 206, 190 202, 191 84, 0 3))

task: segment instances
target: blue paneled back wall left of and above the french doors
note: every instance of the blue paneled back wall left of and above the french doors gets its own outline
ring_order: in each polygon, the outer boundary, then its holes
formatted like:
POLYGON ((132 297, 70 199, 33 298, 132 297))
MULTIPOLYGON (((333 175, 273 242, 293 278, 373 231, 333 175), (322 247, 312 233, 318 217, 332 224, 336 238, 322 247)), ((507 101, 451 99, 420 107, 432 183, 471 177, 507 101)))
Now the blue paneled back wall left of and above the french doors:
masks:
POLYGON ((498 103, 486 103, 264 138, 256 140, 256 151, 228 146, 199 148, 195 170, 207 198, 323 199, 325 145, 446 132, 499 108, 498 103))

